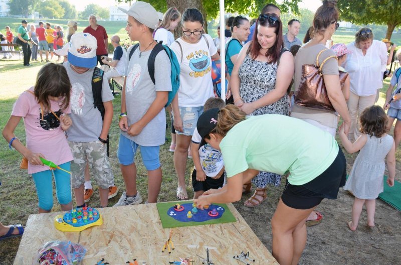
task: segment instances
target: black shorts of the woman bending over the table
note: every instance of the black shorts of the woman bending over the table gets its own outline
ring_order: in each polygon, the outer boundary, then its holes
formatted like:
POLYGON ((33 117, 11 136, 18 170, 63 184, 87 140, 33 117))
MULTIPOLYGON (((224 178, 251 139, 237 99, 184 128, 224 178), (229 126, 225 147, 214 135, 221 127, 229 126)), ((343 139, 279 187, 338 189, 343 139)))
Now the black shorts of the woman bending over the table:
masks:
POLYGON ((285 205, 294 209, 313 208, 324 199, 337 199, 339 188, 345 185, 346 177, 345 156, 338 149, 333 163, 319 176, 304 185, 286 183, 281 200, 285 205))

